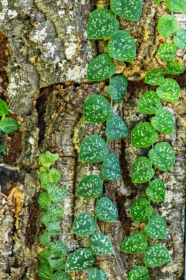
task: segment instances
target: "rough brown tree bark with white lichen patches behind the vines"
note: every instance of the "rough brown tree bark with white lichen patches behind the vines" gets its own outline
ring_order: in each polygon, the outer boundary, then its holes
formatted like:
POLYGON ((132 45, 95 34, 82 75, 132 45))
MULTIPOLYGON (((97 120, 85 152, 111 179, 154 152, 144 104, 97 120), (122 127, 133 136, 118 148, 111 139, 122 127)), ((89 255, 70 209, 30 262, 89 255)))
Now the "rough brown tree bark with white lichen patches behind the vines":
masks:
MULTIPOLYGON (((129 271, 143 263, 143 254, 120 252, 125 237, 145 222, 133 222, 130 207, 145 195, 145 184, 132 184, 131 173, 135 160, 148 155, 149 148, 131 147, 132 129, 141 121, 149 121, 138 113, 137 103, 142 94, 155 87, 144 83, 145 74, 155 67, 165 68, 167 62, 156 57, 165 40, 157 30, 157 22, 169 13, 165 0, 158 6, 152 0, 143 0, 139 22, 118 18, 120 29, 132 34, 136 43, 134 63, 113 59, 116 73, 129 79, 129 86, 120 105, 114 112, 120 115, 129 130, 129 136, 110 141, 110 152, 120 159, 122 178, 104 181, 103 196, 110 198, 118 208, 117 223, 98 220, 98 231, 112 241, 114 255, 96 256, 95 266, 104 269, 109 280, 126 280, 129 271)), ((44 228, 39 223, 41 209, 37 198, 42 189, 38 179, 40 152, 58 152, 55 164, 62 174, 61 186, 68 190, 62 203, 64 217, 62 232, 56 237, 64 241, 69 252, 87 247, 88 237, 72 234, 74 218, 83 211, 94 213, 95 200, 75 196, 80 179, 88 174, 99 175, 100 164, 78 162, 82 140, 91 134, 104 136, 105 123, 83 123, 83 104, 88 96, 99 93, 106 97, 108 81, 88 83, 86 67, 99 53, 106 52, 107 39, 87 40, 86 25, 90 13, 99 7, 109 8, 107 0, 0 0, 0 93, 20 129, 3 134, 0 144, 0 279, 37 280, 38 254, 43 250, 39 235, 44 228)), ((186 15, 175 14, 178 27, 186 29, 186 15)), ((185 63, 185 50, 177 49, 176 61, 185 63)), ((168 77, 168 75, 167 75, 168 77)), ((171 77, 172 78, 172 77, 171 77)), ((165 202, 153 203, 154 212, 167 223, 167 240, 155 240, 170 251, 171 262, 149 269, 151 280, 184 279, 184 243, 181 229, 184 205, 186 78, 174 77, 181 87, 176 104, 163 101, 175 119, 173 136, 159 133, 159 141, 169 142, 175 151, 176 162, 168 173, 155 168, 155 177, 166 186, 165 202)), ((109 98, 109 97, 108 97, 109 98)), ((149 238, 149 243, 152 239, 149 238)), ((71 273, 73 279, 88 279, 89 271, 71 273)))

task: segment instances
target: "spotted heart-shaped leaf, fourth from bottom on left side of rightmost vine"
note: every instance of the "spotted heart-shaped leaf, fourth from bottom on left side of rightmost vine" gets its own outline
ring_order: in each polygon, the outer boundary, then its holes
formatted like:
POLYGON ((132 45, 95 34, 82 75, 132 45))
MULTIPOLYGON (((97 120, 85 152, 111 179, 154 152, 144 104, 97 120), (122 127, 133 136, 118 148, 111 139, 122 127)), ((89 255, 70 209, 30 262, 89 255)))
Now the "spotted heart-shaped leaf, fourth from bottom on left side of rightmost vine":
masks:
POLYGON ((152 163, 147 157, 140 157, 134 163, 132 170, 132 183, 145 183, 154 176, 152 163))

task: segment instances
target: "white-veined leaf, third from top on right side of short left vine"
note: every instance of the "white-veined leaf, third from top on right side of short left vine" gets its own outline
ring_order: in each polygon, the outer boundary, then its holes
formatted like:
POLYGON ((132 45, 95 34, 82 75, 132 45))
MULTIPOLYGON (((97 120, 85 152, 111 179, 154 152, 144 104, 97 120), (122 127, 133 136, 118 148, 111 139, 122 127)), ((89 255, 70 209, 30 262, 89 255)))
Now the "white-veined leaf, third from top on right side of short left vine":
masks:
POLYGON ((66 198, 66 187, 58 188, 57 182, 51 182, 46 186, 47 192, 54 203, 63 201, 66 198))

